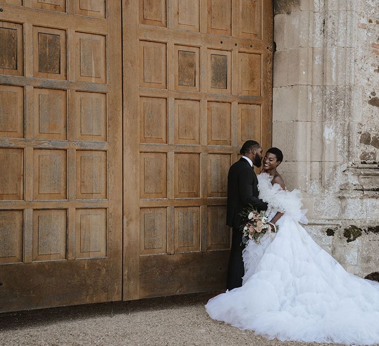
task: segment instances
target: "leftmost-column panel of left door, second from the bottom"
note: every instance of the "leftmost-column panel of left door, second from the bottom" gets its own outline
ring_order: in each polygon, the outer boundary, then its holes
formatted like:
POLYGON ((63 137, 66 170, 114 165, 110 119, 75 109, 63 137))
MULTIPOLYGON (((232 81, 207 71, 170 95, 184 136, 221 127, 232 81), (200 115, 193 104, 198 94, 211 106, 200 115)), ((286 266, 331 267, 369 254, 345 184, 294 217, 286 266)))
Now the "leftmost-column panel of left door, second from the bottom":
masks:
POLYGON ((24 150, 0 148, 0 200, 24 198, 24 150))

